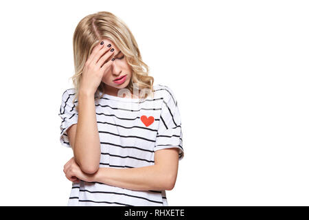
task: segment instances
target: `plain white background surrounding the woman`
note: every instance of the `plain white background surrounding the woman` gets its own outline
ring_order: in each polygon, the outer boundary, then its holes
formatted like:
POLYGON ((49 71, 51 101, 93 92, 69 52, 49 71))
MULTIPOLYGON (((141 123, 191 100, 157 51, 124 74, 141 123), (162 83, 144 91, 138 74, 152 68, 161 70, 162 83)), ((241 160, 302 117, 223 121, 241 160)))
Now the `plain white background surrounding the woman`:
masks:
POLYGON ((67 206, 72 38, 109 11, 179 103, 170 206, 308 206, 308 1, 1 1, 1 206, 67 206))

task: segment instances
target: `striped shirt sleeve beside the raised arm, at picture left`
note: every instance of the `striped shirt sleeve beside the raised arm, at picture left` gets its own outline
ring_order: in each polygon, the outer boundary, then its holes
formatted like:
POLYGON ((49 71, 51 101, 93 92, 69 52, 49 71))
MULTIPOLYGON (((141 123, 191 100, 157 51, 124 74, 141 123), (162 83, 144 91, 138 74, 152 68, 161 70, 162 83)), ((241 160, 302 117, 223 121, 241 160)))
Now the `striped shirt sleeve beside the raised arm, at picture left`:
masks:
POLYGON ((62 102, 60 112, 58 115, 61 118, 60 122, 60 143, 64 146, 71 147, 69 144, 69 137, 67 136, 67 129, 72 124, 78 122, 78 112, 73 103, 73 96, 75 95, 74 89, 68 89, 62 94, 62 102))

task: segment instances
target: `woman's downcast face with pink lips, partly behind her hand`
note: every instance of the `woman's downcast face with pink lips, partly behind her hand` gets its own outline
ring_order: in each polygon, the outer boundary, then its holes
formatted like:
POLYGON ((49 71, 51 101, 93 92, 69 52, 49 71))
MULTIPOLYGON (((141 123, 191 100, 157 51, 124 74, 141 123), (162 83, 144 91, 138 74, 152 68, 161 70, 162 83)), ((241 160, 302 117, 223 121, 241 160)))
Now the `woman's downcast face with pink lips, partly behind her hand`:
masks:
MULTIPOLYGON (((126 57, 119 48, 109 39, 102 39, 104 41, 104 47, 111 44, 111 49, 114 48, 113 55, 108 58, 107 61, 110 61, 112 58, 115 58, 115 61, 112 61, 111 68, 109 68, 103 78, 102 82, 104 83, 104 94, 111 96, 117 96, 119 89, 124 89, 130 83, 130 78, 132 77, 132 70, 130 65, 126 62, 126 57), (116 78, 121 78, 120 80, 115 80, 116 78)), ((106 62, 107 62, 106 61, 106 62)))

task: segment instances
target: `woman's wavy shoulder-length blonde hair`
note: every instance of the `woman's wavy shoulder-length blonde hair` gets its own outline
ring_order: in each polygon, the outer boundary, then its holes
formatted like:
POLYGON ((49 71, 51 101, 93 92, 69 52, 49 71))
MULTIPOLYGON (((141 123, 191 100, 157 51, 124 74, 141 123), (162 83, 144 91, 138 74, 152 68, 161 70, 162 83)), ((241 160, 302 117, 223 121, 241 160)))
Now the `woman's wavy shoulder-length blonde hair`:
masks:
MULTIPOLYGON (((97 12, 89 14, 84 17, 77 25, 73 34, 73 56, 74 56, 74 70, 75 73, 71 77, 73 80, 73 87, 76 89, 73 102, 78 96, 80 89, 80 80, 82 70, 87 58, 90 56, 93 47, 100 43, 102 38, 109 39, 122 51, 126 57, 126 62, 132 69, 132 77, 130 83, 126 87, 133 94, 133 83, 138 85, 138 89, 149 89, 151 96, 153 96, 153 82, 154 78, 148 76, 148 65, 141 59, 141 53, 133 34, 130 32, 127 25, 121 19, 115 17, 111 12, 97 12)), ((103 82, 95 91, 95 101, 102 98, 104 94, 103 82), (98 96, 99 92, 101 96, 98 96)), ((144 94, 143 98, 146 98, 144 94)), ((76 105, 78 110, 78 106, 76 105)))

